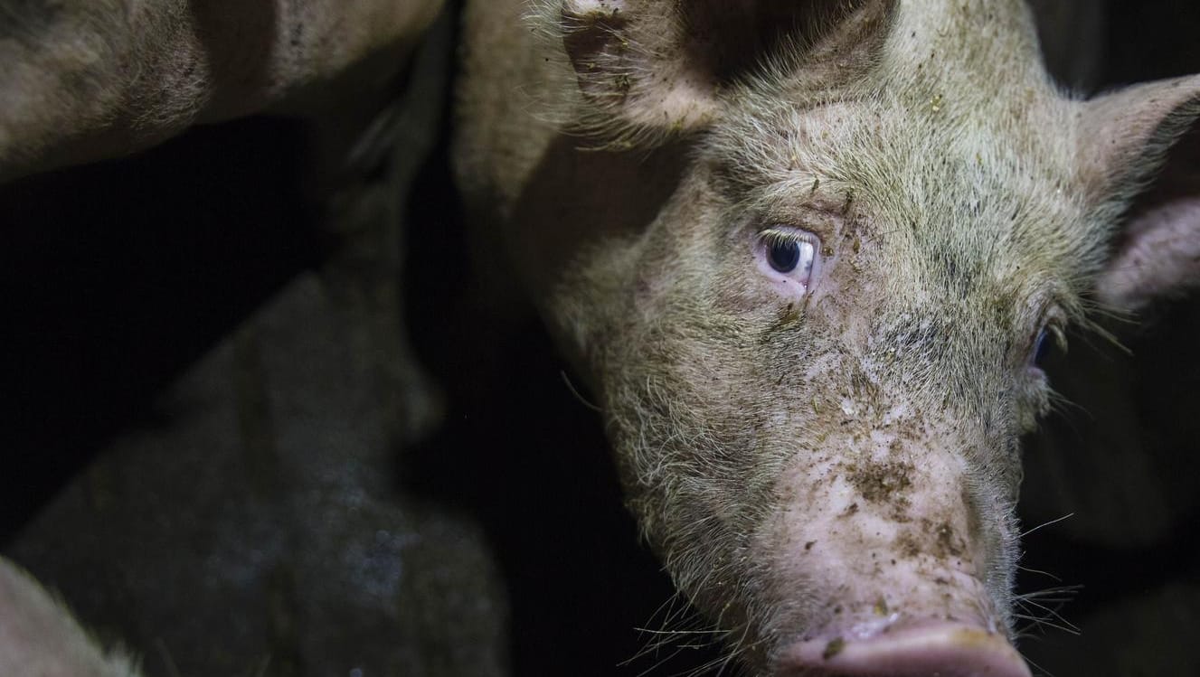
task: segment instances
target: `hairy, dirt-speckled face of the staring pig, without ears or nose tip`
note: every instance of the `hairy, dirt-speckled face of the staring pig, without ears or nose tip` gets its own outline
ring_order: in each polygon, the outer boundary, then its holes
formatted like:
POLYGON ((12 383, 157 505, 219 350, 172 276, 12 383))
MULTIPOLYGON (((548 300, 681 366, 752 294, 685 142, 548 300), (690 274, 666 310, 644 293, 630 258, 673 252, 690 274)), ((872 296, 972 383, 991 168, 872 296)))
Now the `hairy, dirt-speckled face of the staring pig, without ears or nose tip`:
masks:
POLYGON ((629 245, 600 352, 631 503, 751 651, 1010 629, 1036 354, 1096 239, 1063 168, 913 103, 764 106, 629 245))

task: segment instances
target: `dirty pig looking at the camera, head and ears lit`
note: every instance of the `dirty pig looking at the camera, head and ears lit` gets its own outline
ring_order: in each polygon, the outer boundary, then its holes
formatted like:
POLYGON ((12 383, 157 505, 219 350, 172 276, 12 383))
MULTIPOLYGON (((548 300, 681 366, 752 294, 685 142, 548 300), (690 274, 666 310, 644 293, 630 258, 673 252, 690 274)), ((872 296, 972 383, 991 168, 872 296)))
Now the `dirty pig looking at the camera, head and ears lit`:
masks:
POLYGON ((454 156, 750 673, 1021 677, 1042 355, 1193 284, 1138 198, 1200 78, 1092 100, 1019 0, 468 2, 454 156))

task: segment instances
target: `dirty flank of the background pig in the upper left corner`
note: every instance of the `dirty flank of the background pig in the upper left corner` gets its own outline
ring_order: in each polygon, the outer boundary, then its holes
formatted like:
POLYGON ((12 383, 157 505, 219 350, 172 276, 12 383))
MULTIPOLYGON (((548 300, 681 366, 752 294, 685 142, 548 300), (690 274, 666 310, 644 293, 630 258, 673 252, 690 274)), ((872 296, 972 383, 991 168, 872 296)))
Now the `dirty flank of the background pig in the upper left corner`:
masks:
POLYGON ((0 5, 0 181, 256 113, 352 143, 442 0, 0 5), (336 96, 331 96, 336 95, 336 96), (353 95, 353 96, 346 96, 353 95))

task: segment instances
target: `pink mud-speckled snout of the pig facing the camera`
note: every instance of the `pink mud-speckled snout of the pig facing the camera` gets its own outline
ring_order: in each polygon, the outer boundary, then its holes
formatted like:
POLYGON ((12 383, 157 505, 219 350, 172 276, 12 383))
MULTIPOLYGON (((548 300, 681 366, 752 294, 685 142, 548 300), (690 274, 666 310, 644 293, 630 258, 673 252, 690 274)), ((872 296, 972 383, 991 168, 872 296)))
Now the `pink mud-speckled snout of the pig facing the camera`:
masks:
POLYGON ((784 600, 770 673, 1028 677, 997 574, 1015 540, 1002 492, 928 439, 875 432, 833 448, 792 465, 761 541, 784 600))

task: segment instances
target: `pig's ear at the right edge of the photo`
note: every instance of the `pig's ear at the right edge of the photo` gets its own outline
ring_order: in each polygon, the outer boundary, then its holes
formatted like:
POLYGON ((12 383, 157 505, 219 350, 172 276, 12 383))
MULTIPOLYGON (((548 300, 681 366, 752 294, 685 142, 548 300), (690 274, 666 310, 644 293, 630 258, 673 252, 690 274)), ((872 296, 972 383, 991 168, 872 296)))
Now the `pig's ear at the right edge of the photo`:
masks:
POLYGON ((1080 160, 1100 205, 1129 205, 1097 299, 1122 311, 1200 287, 1200 76, 1085 104, 1080 160))

